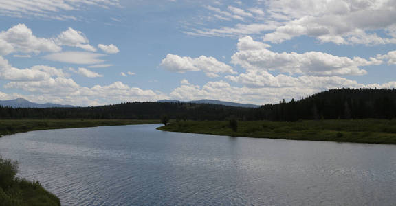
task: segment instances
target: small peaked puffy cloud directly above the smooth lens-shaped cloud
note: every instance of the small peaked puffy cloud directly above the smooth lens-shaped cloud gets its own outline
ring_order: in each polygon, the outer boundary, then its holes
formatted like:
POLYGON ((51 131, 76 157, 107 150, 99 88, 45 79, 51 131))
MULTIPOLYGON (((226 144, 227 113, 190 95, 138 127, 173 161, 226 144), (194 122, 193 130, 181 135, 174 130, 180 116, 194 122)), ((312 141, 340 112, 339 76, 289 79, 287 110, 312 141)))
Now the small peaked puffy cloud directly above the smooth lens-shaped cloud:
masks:
POLYGON ((83 32, 69 28, 68 30, 62 32, 56 38, 58 45, 65 45, 69 47, 79 47, 85 49, 89 52, 96 52, 96 48, 89 45, 88 38, 83 34, 83 32))

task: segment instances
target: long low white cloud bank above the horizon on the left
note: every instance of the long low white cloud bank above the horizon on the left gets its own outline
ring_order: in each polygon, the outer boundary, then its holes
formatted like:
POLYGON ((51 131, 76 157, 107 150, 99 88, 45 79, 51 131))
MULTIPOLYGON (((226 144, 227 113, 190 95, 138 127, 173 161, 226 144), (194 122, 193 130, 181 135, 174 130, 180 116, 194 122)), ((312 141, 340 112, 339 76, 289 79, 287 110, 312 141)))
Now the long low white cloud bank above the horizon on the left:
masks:
POLYGON ((152 90, 129 87, 122 82, 94 87, 81 87, 70 78, 50 78, 35 82, 10 82, 6 89, 21 89, 30 95, 8 95, 0 92, 0 98, 18 96, 33 102, 53 102, 76 106, 97 106, 120 102, 155 101, 168 99, 168 95, 152 90), (38 95, 39 94, 39 95, 38 95))

